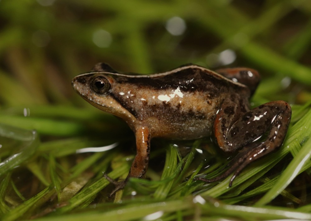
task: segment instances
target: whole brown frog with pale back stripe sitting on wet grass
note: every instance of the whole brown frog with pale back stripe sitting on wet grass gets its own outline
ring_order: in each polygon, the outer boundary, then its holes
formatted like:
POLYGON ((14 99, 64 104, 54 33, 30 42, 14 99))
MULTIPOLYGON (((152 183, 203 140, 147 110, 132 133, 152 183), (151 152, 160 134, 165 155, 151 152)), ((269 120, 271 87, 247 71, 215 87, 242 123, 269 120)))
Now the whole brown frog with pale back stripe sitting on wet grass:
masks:
POLYGON ((115 71, 98 63, 72 79, 74 90, 96 108, 124 120, 136 138, 136 155, 123 181, 104 175, 121 190, 129 178, 144 178, 152 138, 194 140, 213 137, 225 153, 237 153, 221 175, 196 180, 216 182, 231 176, 229 186, 251 162, 281 147, 291 119, 285 101, 250 109, 260 76, 251 68, 215 71, 187 64, 148 75, 115 71))

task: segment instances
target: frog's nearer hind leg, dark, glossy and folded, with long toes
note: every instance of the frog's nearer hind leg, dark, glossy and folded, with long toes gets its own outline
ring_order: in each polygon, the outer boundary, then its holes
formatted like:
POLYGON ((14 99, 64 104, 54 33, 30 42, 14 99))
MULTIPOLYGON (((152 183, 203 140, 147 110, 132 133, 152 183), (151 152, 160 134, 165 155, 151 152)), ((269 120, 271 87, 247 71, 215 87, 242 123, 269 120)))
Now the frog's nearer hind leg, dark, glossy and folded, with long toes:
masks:
POLYGON ((236 111, 239 109, 239 103, 227 99, 216 116, 214 131, 221 149, 225 152, 241 149, 240 152, 222 175, 211 180, 199 177, 198 180, 214 182, 234 172, 229 184, 231 186, 234 178, 250 162, 282 145, 291 118, 288 103, 272 101, 244 112, 237 119, 239 113, 236 111), (263 138, 266 132, 268 135, 263 138))

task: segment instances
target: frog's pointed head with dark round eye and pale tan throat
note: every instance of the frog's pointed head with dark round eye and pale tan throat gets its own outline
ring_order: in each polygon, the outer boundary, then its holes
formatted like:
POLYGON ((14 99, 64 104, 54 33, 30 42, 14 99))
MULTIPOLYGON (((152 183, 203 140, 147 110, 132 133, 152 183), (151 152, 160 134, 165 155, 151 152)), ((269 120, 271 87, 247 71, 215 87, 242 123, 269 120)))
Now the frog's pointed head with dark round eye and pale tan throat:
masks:
POLYGON ((72 79, 74 90, 96 108, 132 122, 135 117, 115 98, 113 87, 117 84, 112 73, 90 72, 72 79))

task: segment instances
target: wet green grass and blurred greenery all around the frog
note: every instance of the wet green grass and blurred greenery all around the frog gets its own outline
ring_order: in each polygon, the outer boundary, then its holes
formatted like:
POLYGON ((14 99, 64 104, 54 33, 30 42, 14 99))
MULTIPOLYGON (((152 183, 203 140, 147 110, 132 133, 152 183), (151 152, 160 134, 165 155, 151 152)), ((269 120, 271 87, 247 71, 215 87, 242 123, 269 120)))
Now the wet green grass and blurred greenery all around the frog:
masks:
POLYGON ((309 0, 0 0, 0 219, 310 220, 310 15, 309 0), (146 179, 109 198, 103 172, 127 176, 135 139, 71 87, 97 62, 135 73, 256 69, 252 107, 292 106, 285 142, 229 188, 230 177, 194 180, 231 159, 210 139, 155 139, 146 179))

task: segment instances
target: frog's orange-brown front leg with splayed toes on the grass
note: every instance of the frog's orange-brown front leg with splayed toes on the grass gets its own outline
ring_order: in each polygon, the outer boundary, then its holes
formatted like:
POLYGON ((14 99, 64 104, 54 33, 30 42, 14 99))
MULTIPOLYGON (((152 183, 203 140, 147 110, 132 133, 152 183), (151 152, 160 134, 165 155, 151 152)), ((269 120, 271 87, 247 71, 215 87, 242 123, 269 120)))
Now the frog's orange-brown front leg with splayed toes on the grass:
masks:
POLYGON ((132 166, 128 173, 128 176, 123 181, 114 181, 107 175, 104 175, 106 179, 108 179, 111 183, 113 183, 116 187, 111 192, 110 196, 113 195, 116 191, 121 190, 125 187, 128 178, 143 178, 146 174, 148 163, 149 163, 149 154, 150 154, 150 132, 148 127, 137 127, 135 129, 135 137, 136 137, 136 156, 134 161, 132 162, 132 166))

